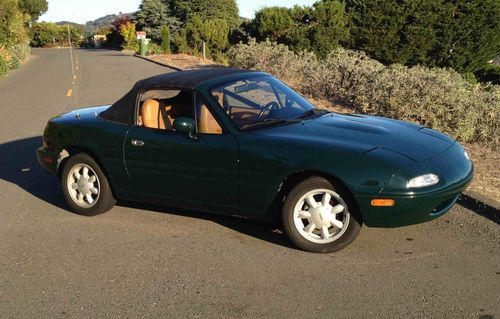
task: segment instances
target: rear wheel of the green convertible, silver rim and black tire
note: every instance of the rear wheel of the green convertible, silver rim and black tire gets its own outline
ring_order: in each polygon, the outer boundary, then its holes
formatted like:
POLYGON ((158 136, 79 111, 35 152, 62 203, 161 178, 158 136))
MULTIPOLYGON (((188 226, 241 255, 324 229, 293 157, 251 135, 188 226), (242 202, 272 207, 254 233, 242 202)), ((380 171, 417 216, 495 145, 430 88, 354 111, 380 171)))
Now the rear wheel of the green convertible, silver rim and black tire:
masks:
POLYGON ((102 214, 116 203, 106 176, 87 154, 79 153, 67 160, 61 182, 64 199, 77 214, 102 214))

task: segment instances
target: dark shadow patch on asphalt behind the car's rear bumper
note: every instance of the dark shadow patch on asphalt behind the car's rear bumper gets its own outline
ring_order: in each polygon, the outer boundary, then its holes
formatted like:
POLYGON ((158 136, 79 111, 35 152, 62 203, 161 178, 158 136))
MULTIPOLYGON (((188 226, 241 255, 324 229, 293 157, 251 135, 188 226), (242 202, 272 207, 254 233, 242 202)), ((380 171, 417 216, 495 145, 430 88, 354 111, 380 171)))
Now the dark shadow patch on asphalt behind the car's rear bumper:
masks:
POLYGON ((48 175, 38 164, 36 150, 40 146, 41 136, 0 144, 0 179, 47 203, 67 209, 57 178, 48 175))

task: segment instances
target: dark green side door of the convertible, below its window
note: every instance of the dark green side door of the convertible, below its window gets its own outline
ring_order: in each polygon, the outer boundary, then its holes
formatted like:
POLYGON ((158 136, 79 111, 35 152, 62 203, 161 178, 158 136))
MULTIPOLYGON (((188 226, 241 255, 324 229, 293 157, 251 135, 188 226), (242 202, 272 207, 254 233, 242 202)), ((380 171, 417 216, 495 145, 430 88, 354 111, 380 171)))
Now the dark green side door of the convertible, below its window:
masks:
MULTIPOLYGON (((194 103, 186 105, 195 118, 200 103, 196 110, 194 103)), ((193 138, 135 125, 124 140, 124 159, 135 193, 143 198, 206 210, 238 207, 238 144, 222 129, 193 138)))

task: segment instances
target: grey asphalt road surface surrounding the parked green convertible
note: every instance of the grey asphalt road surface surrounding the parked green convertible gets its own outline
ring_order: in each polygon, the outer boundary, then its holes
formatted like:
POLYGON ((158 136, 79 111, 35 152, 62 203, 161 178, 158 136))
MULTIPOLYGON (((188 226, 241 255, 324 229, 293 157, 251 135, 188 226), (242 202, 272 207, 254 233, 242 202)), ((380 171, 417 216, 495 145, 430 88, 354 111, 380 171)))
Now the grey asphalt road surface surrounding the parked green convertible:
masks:
POLYGON ((500 318, 500 227, 458 205, 422 225, 365 227, 330 255, 233 218, 69 212, 36 162, 46 121, 168 71, 113 51, 75 56, 77 100, 69 50, 33 50, 0 79, 0 317, 500 318))

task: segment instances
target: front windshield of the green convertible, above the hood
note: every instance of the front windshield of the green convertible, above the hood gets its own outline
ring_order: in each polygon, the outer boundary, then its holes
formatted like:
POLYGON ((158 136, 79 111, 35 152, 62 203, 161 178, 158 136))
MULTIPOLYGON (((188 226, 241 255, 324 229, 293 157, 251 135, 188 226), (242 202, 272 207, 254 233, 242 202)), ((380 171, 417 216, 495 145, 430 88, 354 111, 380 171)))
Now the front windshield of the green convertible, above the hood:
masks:
POLYGON ((211 93, 242 130, 294 122, 315 113, 311 103, 271 76, 241 79, 215 88, 211 93))

